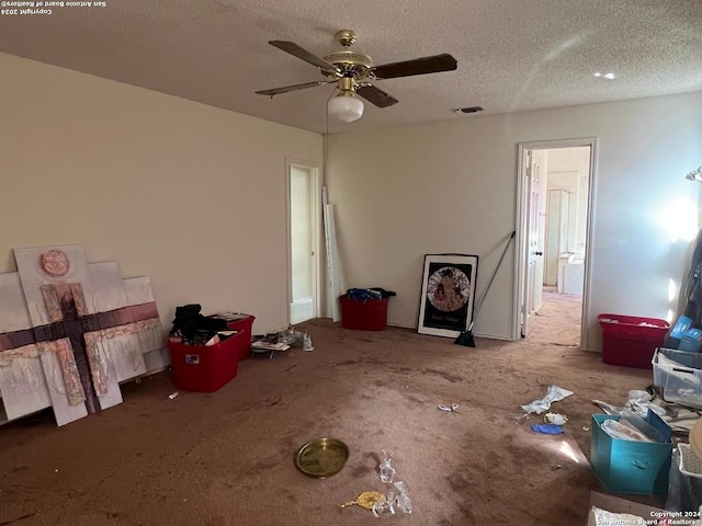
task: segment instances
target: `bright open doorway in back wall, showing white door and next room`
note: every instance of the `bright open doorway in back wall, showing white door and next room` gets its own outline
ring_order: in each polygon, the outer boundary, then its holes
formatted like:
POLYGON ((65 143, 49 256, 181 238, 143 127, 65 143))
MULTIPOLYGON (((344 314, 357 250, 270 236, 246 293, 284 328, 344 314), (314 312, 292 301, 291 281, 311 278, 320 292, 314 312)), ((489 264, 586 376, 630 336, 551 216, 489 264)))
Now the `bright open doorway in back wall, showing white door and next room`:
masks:
POLYGON ((514 339, 587 345, 597 140, 520 145, 514 339))

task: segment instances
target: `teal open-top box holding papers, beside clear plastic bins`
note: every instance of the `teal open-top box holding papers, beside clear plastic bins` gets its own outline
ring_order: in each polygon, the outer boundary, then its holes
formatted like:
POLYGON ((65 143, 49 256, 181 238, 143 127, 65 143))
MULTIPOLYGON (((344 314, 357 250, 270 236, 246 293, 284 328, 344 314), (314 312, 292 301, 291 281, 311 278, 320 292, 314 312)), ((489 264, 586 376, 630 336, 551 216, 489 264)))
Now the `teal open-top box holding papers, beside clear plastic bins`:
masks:
POLYGON ((660 416, 648 411, 646 422, 660 431, 667 442, 644 443, 612 438, 600 424, 619 415, 593 414, 590 426, 590 461, 608 491, 642 495, 665 495, 672 455, 672 430, 660 416))

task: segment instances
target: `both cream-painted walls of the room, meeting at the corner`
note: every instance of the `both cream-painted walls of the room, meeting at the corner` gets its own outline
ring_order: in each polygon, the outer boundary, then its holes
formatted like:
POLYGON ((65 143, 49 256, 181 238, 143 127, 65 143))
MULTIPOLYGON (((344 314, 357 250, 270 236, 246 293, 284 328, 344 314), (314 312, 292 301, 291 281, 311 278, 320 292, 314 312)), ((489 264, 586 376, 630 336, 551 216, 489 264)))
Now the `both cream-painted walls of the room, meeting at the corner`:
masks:
MULTIPOLYGON (((166 329, 186 302, 251 312, 261 332, 286 323, 285 158, 321 164, 319 135, 10 55, 0 71, 0 272, 14 247, 83 243, 151 277, 166 329)), ((690 249, 671 218, 700 196, 683 179, 700 115, 693 93, 330 136, 346 283, 396 290, 388 322, 416 327, 423 255, 463 252, 480 256, 479 297, 516 227, 517 145, 595 136, 589 340, 599 312, 665 318, 690 249)), ((511 334, 513 258, 476 334, 511 334)))

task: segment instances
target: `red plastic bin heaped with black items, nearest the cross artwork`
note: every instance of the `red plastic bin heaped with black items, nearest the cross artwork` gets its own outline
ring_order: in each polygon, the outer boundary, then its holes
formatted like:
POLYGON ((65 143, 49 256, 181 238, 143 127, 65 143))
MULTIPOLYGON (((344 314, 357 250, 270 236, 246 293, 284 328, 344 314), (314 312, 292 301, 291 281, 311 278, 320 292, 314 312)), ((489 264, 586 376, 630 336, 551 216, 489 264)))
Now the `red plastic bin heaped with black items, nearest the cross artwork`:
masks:
POLYGON ((213 392, 237 376, 244 332, 215 345, 168 342, 173 384, 182 391, 213 392))

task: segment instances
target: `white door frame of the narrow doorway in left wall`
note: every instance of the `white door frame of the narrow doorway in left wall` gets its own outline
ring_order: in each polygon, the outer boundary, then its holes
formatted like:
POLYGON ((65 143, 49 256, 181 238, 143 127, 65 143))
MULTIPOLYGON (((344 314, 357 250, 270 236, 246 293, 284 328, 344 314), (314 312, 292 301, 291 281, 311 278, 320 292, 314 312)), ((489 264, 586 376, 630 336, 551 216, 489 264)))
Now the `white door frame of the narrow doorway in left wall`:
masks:
POLYGON ((314 317, 319 318, 321 316, 321 258, 324 253, 321 251, 321 232, 322 219, 321 219, 321 168, 318 163, 313 161, 305 161, 294 158, 285 158, 285 232, 286 232, 286 268, 287 268, 287 323, 291 322, 290 306, 293 302, 293 254, 292 254, 292 225, 291 225, 291 168, 302 168, 309 170, 310 175, 310 207, 313 214, 312 221, 312 244, 314 250, 313 261, 313 304, 314 304, 314 317))

